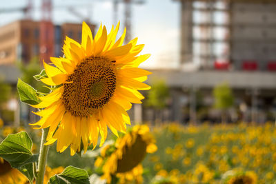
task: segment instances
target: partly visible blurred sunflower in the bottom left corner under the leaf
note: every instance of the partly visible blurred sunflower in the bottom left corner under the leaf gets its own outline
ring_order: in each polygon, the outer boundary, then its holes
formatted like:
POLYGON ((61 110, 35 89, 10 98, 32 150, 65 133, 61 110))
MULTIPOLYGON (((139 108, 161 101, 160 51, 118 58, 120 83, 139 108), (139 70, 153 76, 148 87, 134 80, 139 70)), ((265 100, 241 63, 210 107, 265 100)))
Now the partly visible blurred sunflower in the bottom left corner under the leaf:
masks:
POLYGON ((19 170, 10 166, 10 163, 0 158, 0 184, 24 184, 28 179, 19 170))

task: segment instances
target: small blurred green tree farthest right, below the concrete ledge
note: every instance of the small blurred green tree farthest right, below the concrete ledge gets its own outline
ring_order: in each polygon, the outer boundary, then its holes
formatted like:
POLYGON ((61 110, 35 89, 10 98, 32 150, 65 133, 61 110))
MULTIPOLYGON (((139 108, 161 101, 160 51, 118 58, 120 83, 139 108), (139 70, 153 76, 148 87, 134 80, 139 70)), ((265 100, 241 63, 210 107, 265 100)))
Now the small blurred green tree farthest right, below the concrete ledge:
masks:
POLYGON ((221 83, 213 90, 215 108, 225 110, 233 106, 234 96, 228 83, 221 83))

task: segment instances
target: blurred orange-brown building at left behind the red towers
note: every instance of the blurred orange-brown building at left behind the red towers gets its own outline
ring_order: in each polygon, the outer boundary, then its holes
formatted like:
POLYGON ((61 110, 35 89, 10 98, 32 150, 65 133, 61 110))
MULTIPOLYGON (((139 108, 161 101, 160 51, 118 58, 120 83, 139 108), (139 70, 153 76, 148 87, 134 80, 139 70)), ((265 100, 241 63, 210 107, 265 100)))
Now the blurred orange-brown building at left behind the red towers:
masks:
MULTIPOLYGON (((81 41, 81 23, 63 23, 53 25, 54 34, 50 42, 51 57, 62 56, 61 45, 66 35, 77 41, 81 41)), ((90 24, 92 32, 95 25, 90 24)), ((46 48, 41 44, 41 22, 21 20, 9 23, 0 28, 0 65, 14 65, 17 61, 28 63, 30 59, 38 57, 42 61, 42 54, 46 48)), ((45 58, 46 59, 46 58, 45 58)), ((48 57, 49 59, 49 57, 48 57)), ((46 59, 46 61, 48 61, 46 59)))

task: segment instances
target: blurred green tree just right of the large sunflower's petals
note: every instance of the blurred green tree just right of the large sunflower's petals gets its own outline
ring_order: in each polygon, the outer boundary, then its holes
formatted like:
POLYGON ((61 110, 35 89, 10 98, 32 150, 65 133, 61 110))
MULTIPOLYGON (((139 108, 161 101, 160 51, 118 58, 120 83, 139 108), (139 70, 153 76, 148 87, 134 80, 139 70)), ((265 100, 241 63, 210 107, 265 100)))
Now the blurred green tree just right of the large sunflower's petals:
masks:
POLYGON ((169 96, 169 89, 165 81, 155 81, 155 83, 152 83, 152 87, 148 92, 148 98, 145 104, 148 107, 161 110, 166 108, 166 99, 168 99, 169 96))

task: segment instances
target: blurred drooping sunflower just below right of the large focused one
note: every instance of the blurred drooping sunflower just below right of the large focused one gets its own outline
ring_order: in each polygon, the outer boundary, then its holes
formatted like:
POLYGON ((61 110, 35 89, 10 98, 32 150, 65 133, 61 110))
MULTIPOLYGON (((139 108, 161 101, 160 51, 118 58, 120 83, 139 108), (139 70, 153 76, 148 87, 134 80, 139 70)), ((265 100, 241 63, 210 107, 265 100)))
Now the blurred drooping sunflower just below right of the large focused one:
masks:
MULTIPOLYGON (((114 147, 110 146, 110 149, 114 147)), ((155 139, 149 132, 147 125, 135 125, 132 130, 122 138, 118 138, 115 142, 114 151, 109 154, 107 149, 103 147, 104 152, 98 157, 102 165, 102 178, 110 183, 112 176, 119 178, 119 183, 127 183, 126 181, 136 181, 142 183, 143 167, 140 164, 146 153, 153 153, 157 150, 155 139)), ((97 159, 97 160, 98 160, 97 159)), ((97 161, 96 161, 97 163, 97 161)), ((97 165, 100 165, 97 163, 97 165)))

